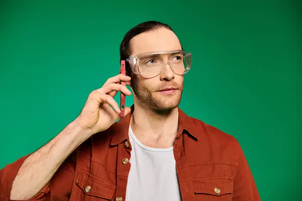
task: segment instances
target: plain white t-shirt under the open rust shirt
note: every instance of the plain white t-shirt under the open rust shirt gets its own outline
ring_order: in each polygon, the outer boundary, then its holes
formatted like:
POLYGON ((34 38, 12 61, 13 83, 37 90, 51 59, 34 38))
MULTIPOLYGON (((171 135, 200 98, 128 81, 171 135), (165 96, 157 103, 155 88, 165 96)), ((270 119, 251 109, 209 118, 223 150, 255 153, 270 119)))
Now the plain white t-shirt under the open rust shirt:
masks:
POLYGON ((131 168, 126 201, 180 201, 173 147, 166 149, 143 145, 129 127, 131 168))

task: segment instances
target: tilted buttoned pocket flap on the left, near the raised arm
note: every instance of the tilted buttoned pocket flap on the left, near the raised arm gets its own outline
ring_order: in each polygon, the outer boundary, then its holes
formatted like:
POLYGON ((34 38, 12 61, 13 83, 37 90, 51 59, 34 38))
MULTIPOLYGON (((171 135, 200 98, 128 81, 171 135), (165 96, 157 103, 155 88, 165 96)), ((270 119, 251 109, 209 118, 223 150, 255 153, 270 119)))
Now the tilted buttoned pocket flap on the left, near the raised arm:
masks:
POLYGON ((116 187, 115 185, 82 170, 79 171, 77 184, 86 194, 109 200, 112 199, 116 187))

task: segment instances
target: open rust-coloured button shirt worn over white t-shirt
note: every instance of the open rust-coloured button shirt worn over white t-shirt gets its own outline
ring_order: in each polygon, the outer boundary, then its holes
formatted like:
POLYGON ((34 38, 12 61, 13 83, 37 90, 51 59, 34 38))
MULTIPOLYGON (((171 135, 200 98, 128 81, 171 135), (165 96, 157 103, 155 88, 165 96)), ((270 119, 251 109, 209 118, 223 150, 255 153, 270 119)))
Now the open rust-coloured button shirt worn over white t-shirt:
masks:
MULTIPOLYGON (((131 166, 129 124, 127 115, 106 131, 93 135, 30 200, 125 200, 131 166)), ((13 180, 27 157, 0 170, 1 201, 10 200, 13 180)), ((188 117, 180 109, 174 157, 183 201, 260 200, 238 141, 188 117)))

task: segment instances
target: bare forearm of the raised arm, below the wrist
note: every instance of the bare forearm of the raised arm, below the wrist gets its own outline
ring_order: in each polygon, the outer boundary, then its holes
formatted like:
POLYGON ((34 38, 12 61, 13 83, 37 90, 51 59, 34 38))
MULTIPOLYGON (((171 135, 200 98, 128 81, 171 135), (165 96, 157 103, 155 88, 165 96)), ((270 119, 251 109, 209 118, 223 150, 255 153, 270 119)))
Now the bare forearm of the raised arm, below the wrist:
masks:
POLYGON ((50 142, 30 155, 13 181, 11 199, 29 199, 37 194, 49 182, 64 160, 89 136, 88 131, 81 129, 74 121, 50 142))

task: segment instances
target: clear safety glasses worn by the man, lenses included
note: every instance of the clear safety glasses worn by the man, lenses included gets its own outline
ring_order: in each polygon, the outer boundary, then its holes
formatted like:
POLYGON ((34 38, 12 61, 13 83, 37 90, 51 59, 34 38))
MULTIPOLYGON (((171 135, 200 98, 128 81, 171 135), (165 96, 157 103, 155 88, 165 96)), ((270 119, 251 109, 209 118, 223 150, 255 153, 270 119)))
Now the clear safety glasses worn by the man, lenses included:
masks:
POLYGON ((183 75, 191 68, 192 56, 187 51, 147 52, 126 59, 135 74, 155 77, 169 65, 175 74, 183 75))

